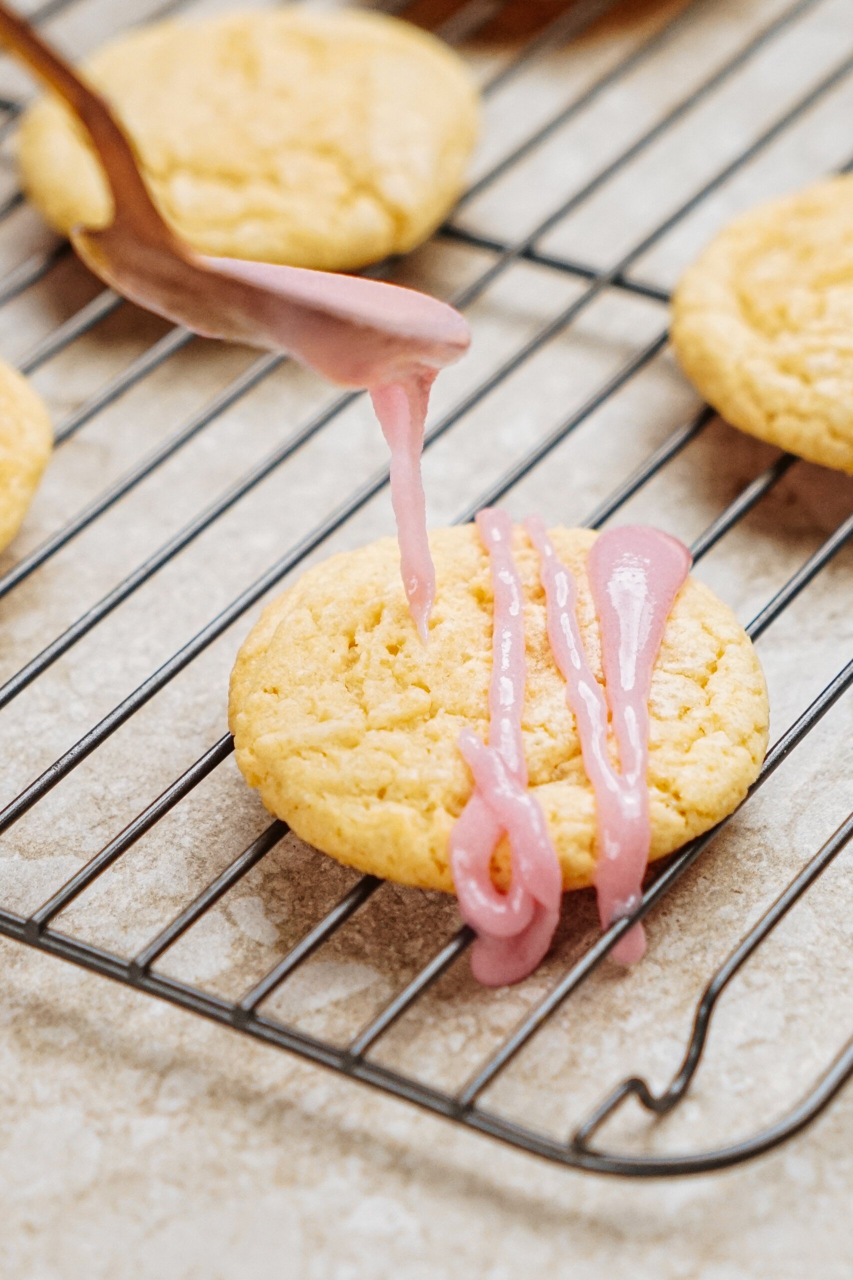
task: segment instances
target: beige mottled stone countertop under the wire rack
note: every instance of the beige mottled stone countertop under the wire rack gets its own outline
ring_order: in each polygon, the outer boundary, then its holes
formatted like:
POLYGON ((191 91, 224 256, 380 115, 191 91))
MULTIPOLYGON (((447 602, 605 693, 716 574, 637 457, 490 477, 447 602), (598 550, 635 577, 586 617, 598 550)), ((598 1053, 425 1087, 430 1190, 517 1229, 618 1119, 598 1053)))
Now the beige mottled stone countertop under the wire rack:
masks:
MULTIPOLYGON (((82 50, 143 0, 79 0, 50 32, 82 50)), ((150 9, 151 6, 147 5, 150 9)), ((223 9, 206 4, 204 9, 223 9)), ((465 212, 521 234, 783 10, 779 0, 698 4, 658 54, 603 95, 517 175, 465 212)), ((496 96, 480 169, 640 32, 616 28, 553 55, 496 96)), ((821 0, 547 239, 607 266, 853 49, 847 0, 821 0)), ((475 55, 487 74, 492 49, 475 55)), ((3 86, 22 88, 4 70, 3 86)), ((638 265, 670 285, 703 241, 751 202, 849 159, 853 79, 739 172, 638 265)), ((12 163, 4 161, 4 182, 12 163)), ((6 271, 47 234, 18 211, 0 232, 6 271)), ((488 261, 430 246, 400 269, 450 293, 488 261)), ((0 351, 20 358, 93 293, 68 259, 0 310, 0 351)), ((435 416, 580 291, 532 265, 471 308, 469 360, 439 380, 435 416)), ((426 456, 430 518, 453 520, 525 448, 661 330, 663 308, 608 293, 487 397, 426 456)), ((47 364, 36 385, 58 420, 163 326, 122 308, 47 364)), ((3 567, 74 516, 247 367, 195 342, 109 406, 55 456, 3 567)), ((305 422, 328 388, 282 369, 201 431, 40 572, 0 602, 6 678, 206 503, 305 422)), ((662 355, 506 499, 573 524, 695 408, 662 355)), ((695 538, 775 451, 724 424, 686 448, 620 518, 695 538)), ((383 460, 362 404, 315 436, 0 714, 5 803, 383 460)), ((748 621, 853 509, 849 479, 799 463, 698 573, 748 621)), ((387 495, 314 554, 392 527, 387 495)), ((841 552, 760 641, 772 737, 847 662, 853 553, 841 552)), ((0 840, 0 901, 31 910, 224 728, 233 655, 250 611, 0 840)), ((665 1083, 707 975, 853 808, 850 695, 652 914, 637 970, 605 965, 488 1096, 566 1133, 629 1071, 665 1083)), ((132 954, 266 826, 227 762, 61 918, 132 954)), ((685 1151, 753 1132, 786 1110, 853 1028, 852 854, 841 854, 733 983, 684 1106, 649 1126, 629 1108, 606 1132, 625 1149, 685 1151)), ((352 882, 282 842, 161 961, 234 996, 352 882)), ((457 925, 452 900, 383 887, 272 1001, 272 1012, 343 1042, 457 925)), ((473 984, 462 960, 374 1051, 426 1080, 461 1083, 593 936, 593 902, 566 902, 553 956, 508 992, 473 984)), ((255 1046, 51 957, 0 942, 0 1271, 26 1280, 847 1280, 853 1094, 785 1148, 739 1170, 631 1184, 542 1164, 402 1103, 255 1046)))

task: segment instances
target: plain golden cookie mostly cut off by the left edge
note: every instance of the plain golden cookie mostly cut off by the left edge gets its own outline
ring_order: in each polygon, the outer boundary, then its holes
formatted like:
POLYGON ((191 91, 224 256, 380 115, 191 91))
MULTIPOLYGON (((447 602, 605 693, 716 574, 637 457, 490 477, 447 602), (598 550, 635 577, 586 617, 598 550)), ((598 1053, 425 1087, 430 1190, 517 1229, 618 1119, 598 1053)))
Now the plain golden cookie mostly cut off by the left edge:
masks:
POLYGON ((40 397, 0 361, 0 550, 20 529, 53 444, 50 417, 40 397))

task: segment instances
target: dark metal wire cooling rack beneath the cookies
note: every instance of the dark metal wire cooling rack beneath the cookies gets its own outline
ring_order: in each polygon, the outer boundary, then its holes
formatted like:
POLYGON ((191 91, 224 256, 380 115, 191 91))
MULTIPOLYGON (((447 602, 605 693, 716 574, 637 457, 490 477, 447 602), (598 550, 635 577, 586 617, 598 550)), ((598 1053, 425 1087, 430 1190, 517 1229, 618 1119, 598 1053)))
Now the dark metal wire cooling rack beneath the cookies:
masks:
MULTIPOLYGON (((33 20, 44 23, 70 10, 74 4, 79 3, 81 0, 50 0, 49 4, 44 4, 32 12, 31 17, 33 20)), ((853 76, 853 29, 848 32, 850 47, 847 51, 840 51, 834 67, 816 78, 807 91, 793 104, 780 110, 760 133, 745 140, 734 157, 729 159, 704 180, 689 198, 672 209, 662 221, 651 230, 647 230, 630 248, 621 252, 612 266, 598 269, 584 261, 575 261, 553 252, 547 252, 540 247, 540 242, 549 232, 564 223, 570 214, 587 205, 597 193, 607 188, 608 184, 619 180, 638 157, 642 157, 648 148, 676 129, 684 120, 689 119, 692 113, 695 113, 707 102, 712 104, 715 95, 731 77, 748 69, 757 59, 772 55, 775 45, 786 35, 795 32, 797 24, 813 15, 821 8, 821 4, 825 3, 826 0, 798 0, 797 4, 788 8, 776 6, 765 26, 753 31, 749 38, 734 54, 729 54, 721 63, 708 67, 704 76, 692 87, 689 93, 671 105, 651 127, 646 128, 630 145, 625 146, 615 157, 594 172, 567 198, 562 198, 558 207, 551 210, 533 230, 521 238, 500 239, 479 234, 462 227, 457 220, 459 214, 441 229, 438 233, 441 243, 455 241, 488 255, 487 269, 482 270, 474 282, 469 283, 452 300, 460 307, 471 306, 511 266, 520 261, 535 264, 540 269, 555 273, 555 275, 567 276, 578 282, 579 292, 575 293, 567 306, 564 306, 558 314, 540 325, 523 346, 519 346, 506 356, 497 367, 488 372, 488 376, 483 378, 448 412, 429 426, 426 448, 485 401, 496 388, 530 361, 546 344, 552 342, 557 335, 564 334, 607 291, 634 294, 649 303, 660 305, 662 325, 669 301, 667 292, 631 276, 631 268, 657 246, 665 236, 676 229, 680 223, 703 206, 704 202, 710 201, 730 179, 745 169, 747 165, 754 161, 756 157, 785 134, 786 131, 803 120, 822 100, 853 76)), ((150 13, 149 17, 160 17, 183 6, 181 0, 173 0, 172 4, 160 6, 150 13)), ((406 8, 406 4, 384 5, 386 12, 396 13, 405 13, 406 8)), ((502 8, 503 4, 501 3, 473 0, 473 3, 464 4, 444 23, 439 33, 456 44, 469 40, 476 35, 479 28, 492 20, 502 8)), ((565 47, 574 40, 580 40, 587 28, 611 8, 612 5, 606 3, 606 0, 598 0, 598 3, 580 0, 580 3, 571 6, 548 28, 517 49, 511 60, 506 61, 497 73, 492 73, 485 84, 487 96, 494 99, 512 83, 515 77, 526 73, 529 68, 535 67, 539 60, 547 59, 555 50, 565 47)), ((713 4, 711 0, 708 3, 693 0, 692 4, 681 8, 675 15, 670 14, 666 20, 661 19, 654 29, 647 32, 642 40, 638 40, 615 63, 587 83, 583 91, 576 92, 567 101, 564 101, 558 111, 551 114, 543 123, 539 123, 524 136, 521 141, 516 142, 508 152, 501 155, 488 172, 466 192, 461 206, 464 207, 470 204, 475 197, 497 184, 500 179, 511 174, 523 161, 530 156, 535 156, 537 151, 547 146, 548 141, 560 129, 570 122, 580 119, 584 111, 606 99, 606 95, 619 92, 629 76, 637 68, 642 67, 646 60, 651 59, 667 40, 674 38, 684 24, 689 24, 697 12, 707 12, 712 8, 713 4)), ((0 133, 5 136, 14 129, 20 106, 12 97, 4 100, 0 106, 6 113, 5 120, 0 124, 0 133)), ((8 219, 20 204, 22 196, 19 193, 12 195, 0 207, 0 218, 8 219)), ((68 253, 68 246, 59 244, 28 256, 17 265, 0 282, 0 306, 19 298, 26 291, 46 278, 65 253, 68 253)), ((99 293, 92 301, 72 315, 70 319, 60 324, 55 332, 44 338, 31 351, 28 357, 22 361, 22 370, 28 374, 35 372, 74 340, 92 330, 120 306, 124 306, 124 303, 111 292, 105 291, 99 293)), ((81 428, 120 396, 154 374, 155 370, 190 340, 191 335, 181 328, 168 332, 60 422, 56 431, 58 443, 67 440, 74 433, 79 431, 81 428)), ((539 436, 535 445, 530 447, 523 457, 516 460, 497 483, 493 483, 487 492, 478 494, 476 500, 470 502, 470 506, 462 512, 460 520, 469 520, 480 506, 497 502, 507 494, 533 468, 547 460, 561 442, 566 440, 573 431, 590 419, 611 398, 616 397, 633 379, 638 378, 665 348, 666 342, 666 329, 661 326, 653 339, 643 346, 642 349, 634 352, 616 372, 608 376, 589 396, 585 403, 547 434, 539 436)), ((83 530, 92 526, 93 522, 99 521, 115 504, 120 503, 133 489, 152 476, 167 461, 173 458, 191 440, 196 439, 200 433, 205 431, 216 419, 225 413, 231 406, 247 396, 283 364, 284 360, 279 356, 261 356, 255 360, 202 411, 187 421, 181 430, 167 436, 154 452, 149 453, 131 471, 122 476, 120 480, 111 484, 97 498, 90 502, 74 518, 69 520, 46 541, 14 563, 0 577, 0 598, 9 595, 9 593, 19 588, 41 566, 68 548, 83 530)), ((306 442, 318 436, 329 424, 334 422, 355 399, 355 396, 347 393, 337 397, 330 404, 327 404, 321 412, 288 435, 273 453, 263 458, 184 527, 169 538, 168 541, 140 563, 133 572, 124 577, 123 581, 96 604, 90 607, 65 631, 56 635, 35 658, 27 662, 26 666, 0 687, 0 708, 9 705, 27 686, 37 681, 51 664, 68 653, 83 636, 96 628, 114 609, 128 600, 133 593, 151 580, 164 566, 169 564, 173 558, 178 557, 184 548, 228 512, 234 503, 260 485, 286 460, 295 456, 306 442)), ((590 527, 598 527, 607 521, 685 449, 708 426, 712 417, 712 412, 708 408, 703 408, 675 430, 619 488, 599 503, 587 520, 587 524, 590 527)), ((692 548, 694 559, 702 559, 711 548, 716 547, 770 493, 793 462, 794 460, 790 456, 783 454, 763 472, 757 475, 694 541, 692 548)), ((213 617, 206 626, 164 662, 147 680, 140 684, 129 696, 124 698, 97 724, 79 737, 69 750, 55 759, 40 777, 24 787, 0 812, 0 835, 8 832, 24 814, 38 805, 51 788, 68 777, 91 753, 114 735, 119 727, 134 717, 149 700, 199 658, 216 637, 223 635, 236 620, 251 609, 256 602, 298 566, 301 561, 321 547, 327 539, 361 512, 368 502, 387 483, 388 471, 387 467, 383 467, 370 476, 366 483, 362 483, 350 493, 297 545, 288 548, 265 573, 247 585, 236 599, 213 617)), ((850 535, 853 535, 853 516, 844 520, 835 529, 753 618, 747 628, 753 639, 763 635, 771 623, 795 600, 799 593, 833 561, 835 554, 850 539, 850 535)), ((762 787, 774 771, 799 746, 809 731, 848 690, 850 684, 853 684, 853 660, 838 672, 820 696, 813 700, 807 710, 775 742, 767 754, 761 776, 754 783, 752 794, 762 787)), ((840 1056, 831 1062, 817 1083, 813 1084, 799 1105, 789 1111, 789 1114, 748 1139, 721 1149, 689 1156, 634 1156, 606 1152, 596 1144, 599 1126, 626 1097, 637 1097, 644 1107, 657 1114, 671 1111, 684 1100, 699 1065, 715 1005, 720 995, 789 909, 808 892, 821 872, 844 847, 850 835, 853 835, 853 815, 815 854, 812 860, 790 882, 772 908, 743 937, 725 964, 710 978, 695 1009, 693 1032, 684 1051, 683 1064, 670 1085, 660 1094, 656 1094, 640 1078, 625 1080, 607 1096, 598 1110, 576 1129, 569 1140, 544 1132, 533 1130, 489 1110, 483 1105, 482 1096, 519 1051, 537 1036, 551 1015, 581 988, 590 974, 602 964, 622 933, 635 920, 642 919, 661 902, 665 895, 676 884, 688 868, 693 865, 711 841, 715 840, 725 823, 683 849, 667 861, 663 870, 654 869, 642 906, 629 919, 608 929, 573 964, 570 970, 556 982, 549 993, 528 1012, 515 1032, 485 1061, 480 1062, 469 1082, 456 1093, 443 1092, 423 1083, 412 1075, 383 1066, 371 1059, 370 1051, 398 1019, 412 1009, 428 988, 462 955, 471 941, 471 933, 467 928, 460 929, 442 946, 433 959, 407 983, 405 989, 400 991, 373 1018, 369 1025, 364 1027, 343 1047, 307 1034, 292 1025, 286 1025, 283 1021, 270 1016, 269 1012, 261 1010, 264 1002, 278 991, 297 968, 327 943, 336 931, 339 931, 368 902, 379 887, 379 881, 370 876, 360 878, 333 909, 316 920, 314 927, 305 933, 298 943, 238 1000, 224 1000, 200 987, 168 977, 156 968, 158 961, 165 952, 282 841, 287 835, 287 828, 282 822, 273 822, 222 874, 209 883, 193 901, 188 902, 132 959, 96 947, 91 942, 73 937, 56 928, 53 922, 55 922, 59 913, 88 890, 108 868, 122 859, 141 837, 150 832, 160 819, 184 800, 193 788, 229 756, 232 750, 233 744, 228 735, 214 742, 152 804, 138 813, 118 836, 110 840, 59 892, 54 893, 37 910, 28 915, 22 915, 8 909, 0 909, 0 932, 9 938, 169 1001, 215 1023, 233 1028, 240 1034, 288 1050, 314 1064, 330 1068, 365 1084, 371 1084, 386 1093, 416 1103, 467 1129, 498 1138, 505 1143, 543 1156, 557 1164, 597 1172, 628 1176, 690 1174, 722 1169, 748 1160, 781 1143, 813 1120, 840 1089, 850 1073, 853 1073, 852 1041, 840 1056)), ((748 803, 749 799, 745 804, 748 803)), ((0 883, 0 899, 3 897, 1 888, 0 883)))

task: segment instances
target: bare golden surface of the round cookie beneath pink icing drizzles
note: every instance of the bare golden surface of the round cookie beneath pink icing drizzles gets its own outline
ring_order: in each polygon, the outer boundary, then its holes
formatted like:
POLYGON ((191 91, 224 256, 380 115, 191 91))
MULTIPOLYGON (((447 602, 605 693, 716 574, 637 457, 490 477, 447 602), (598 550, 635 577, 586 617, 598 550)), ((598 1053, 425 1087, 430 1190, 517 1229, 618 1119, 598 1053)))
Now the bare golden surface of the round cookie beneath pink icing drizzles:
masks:
MULTIPOLYGON (((587 582, 596 535, 552 532, 579 588, 579 622, 601 680, 587 582)), ((452 891, 447 842, 473 788, 459 732, 488 731, 492 582, 476 529, 430 534, 438 594, 429 645, 409 616, 393 539, 309 570, 270 604, 240 652, 229 719, 237 764, 268 809, 304 840, 364 872, 452 891)), ((589 886, 596 815, 580 744, 546 634, 539 559, 521 529, 528 682, 523 718, 530 786, 566 888, 589 886)), ((754 649, 701 582, 679 594, 651 695, 652 858, 707 831, 739 804, 767 745, 767 692, 754 649)), ((508 878, 508 847, 493 861, 508 878)))

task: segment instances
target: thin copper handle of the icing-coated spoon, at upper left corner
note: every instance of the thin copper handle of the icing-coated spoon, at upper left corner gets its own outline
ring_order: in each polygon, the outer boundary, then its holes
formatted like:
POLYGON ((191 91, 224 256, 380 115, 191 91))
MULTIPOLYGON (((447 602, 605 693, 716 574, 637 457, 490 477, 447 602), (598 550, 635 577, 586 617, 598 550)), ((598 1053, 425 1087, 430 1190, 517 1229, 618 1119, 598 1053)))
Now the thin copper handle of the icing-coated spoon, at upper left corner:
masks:
POLYGON ((90 88, 29 23, 3 3, 0 45, 6 45, 35 76, 45 81, 86 128, 113 193, 115 221, 124 223, 128 230, 149 243, 173 248, 174 238, 142 180, 133 145, 100 93, 90 88))

